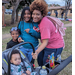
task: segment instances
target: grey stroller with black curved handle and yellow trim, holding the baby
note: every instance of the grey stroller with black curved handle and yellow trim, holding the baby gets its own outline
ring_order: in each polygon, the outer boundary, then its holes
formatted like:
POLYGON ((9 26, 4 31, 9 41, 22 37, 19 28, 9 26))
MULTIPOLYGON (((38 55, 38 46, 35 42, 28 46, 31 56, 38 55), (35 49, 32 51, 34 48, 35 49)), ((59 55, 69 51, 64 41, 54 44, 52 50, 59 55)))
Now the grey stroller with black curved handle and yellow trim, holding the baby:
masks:
MULTIPOLYGON (((10 75, 10 57, 11 57, 11 52, 16 48, 17 50, 20 51, 19 47, 23 44, 30 44, 33 49, 33 53, 35 53, 34 46, 30 42, 22 42, 18 45, 13 46, 12 48, 9 48, 5 51, 2 52, 2 75, 10 75)), ((31 66, 31 72, 35 72, 33 75, 40 75, 40 69, 42 68, 41 66, 34 68, 34 59, 32 58, 32 62, 30 63, 27 57, 20 51, 21 53, 21 59, 23 62, 23 68, 25 68, 24 62, 27 62, 31 66)), ((47 70, 47 75, 56 75, 58 74, 62 69, 64 69, 70 62, 72 62, 72 55, 69 56, 65 60, 61 60, 61 62, 55 61, 56 67, 52 69, 49 66, 49 62, 47 62, 44 66, 46 66, 47 70)))

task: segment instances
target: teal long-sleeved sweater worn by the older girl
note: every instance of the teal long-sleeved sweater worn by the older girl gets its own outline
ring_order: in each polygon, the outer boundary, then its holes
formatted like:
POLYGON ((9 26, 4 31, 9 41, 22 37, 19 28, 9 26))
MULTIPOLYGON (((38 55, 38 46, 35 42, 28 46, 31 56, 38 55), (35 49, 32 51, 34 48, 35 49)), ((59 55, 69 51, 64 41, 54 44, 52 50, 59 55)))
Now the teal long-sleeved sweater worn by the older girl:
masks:
MULTIPOLYGON (((34 47, 36 47, 39 44, 38 38, 40 38, 40 32, 36 32, 33 27, 38 27, 38 23, 26 23, 24 21, 20 21, 18 28, 21 31, 21 35, 19 37, 24 40, 24 42, 30 42, 33 44, 34 47), (25 29, 30 29, 29 33, 24 31, 25 29)), ((24 48, 32 49, 30 44, 23 45, 24 48)))

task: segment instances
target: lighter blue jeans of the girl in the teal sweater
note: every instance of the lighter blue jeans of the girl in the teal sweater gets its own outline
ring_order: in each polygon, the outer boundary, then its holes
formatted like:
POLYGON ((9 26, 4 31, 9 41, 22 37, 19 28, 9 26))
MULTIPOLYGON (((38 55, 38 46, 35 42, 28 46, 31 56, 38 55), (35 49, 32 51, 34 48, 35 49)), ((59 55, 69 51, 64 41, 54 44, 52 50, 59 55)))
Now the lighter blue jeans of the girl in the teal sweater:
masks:
MULTIPOLYGON (((38 46, 35 47, 35 50, 37 50, 38 46)), ((33 49, 27 49, 27 48, 24 48, 23 46, 20 46, 20 50, 23 52, 23 54, 28 58, 28 60, 31 62, 32 60, 32 52, 33 52, 33 49)))

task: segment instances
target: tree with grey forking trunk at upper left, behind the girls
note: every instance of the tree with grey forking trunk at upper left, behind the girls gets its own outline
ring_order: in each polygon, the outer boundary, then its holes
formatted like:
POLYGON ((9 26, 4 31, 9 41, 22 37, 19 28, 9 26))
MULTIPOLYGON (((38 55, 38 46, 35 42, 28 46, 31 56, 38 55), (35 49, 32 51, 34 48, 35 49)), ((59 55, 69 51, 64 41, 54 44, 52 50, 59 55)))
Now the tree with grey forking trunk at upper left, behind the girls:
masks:
POLYGON ((22 8, 22 6, 25 6, 25 4, 29 5, 33 0, 7 0, 9 1, 10 5, 8 7, 13 6, 12 11, 12 17, 11 17, 11 23, 15 23, 15 13, 16 13, 16 21, 18 21, 18 12, 19 9, 22 8))

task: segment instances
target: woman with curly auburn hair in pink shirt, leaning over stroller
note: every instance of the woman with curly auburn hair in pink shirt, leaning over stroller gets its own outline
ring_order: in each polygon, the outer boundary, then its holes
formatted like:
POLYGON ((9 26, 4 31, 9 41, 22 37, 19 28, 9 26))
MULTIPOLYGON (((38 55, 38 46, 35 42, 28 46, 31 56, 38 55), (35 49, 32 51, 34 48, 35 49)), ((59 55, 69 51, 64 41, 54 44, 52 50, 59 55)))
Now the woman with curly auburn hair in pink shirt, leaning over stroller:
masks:
POLYGON ((48 12, 48 5, 44 0, 35 0, 30 5, 30 11, 32 12, 32 18, 34 22, 39 23, 39 29, 41 33, 41 45, 32 53, 33 59, 38 57, 38 64, 42 66, 46 63, 48 55, 54 52, 55 59, 57 55, 61 54, 64 46, 64 41, 57 31, 53 23, 45 17, 48 12), (39 54, 39 55, 38 55, 39 54))

